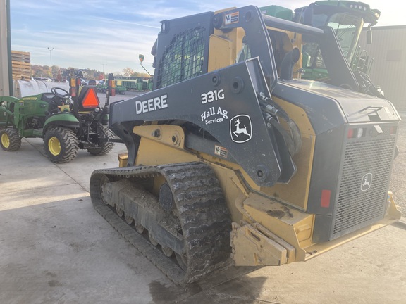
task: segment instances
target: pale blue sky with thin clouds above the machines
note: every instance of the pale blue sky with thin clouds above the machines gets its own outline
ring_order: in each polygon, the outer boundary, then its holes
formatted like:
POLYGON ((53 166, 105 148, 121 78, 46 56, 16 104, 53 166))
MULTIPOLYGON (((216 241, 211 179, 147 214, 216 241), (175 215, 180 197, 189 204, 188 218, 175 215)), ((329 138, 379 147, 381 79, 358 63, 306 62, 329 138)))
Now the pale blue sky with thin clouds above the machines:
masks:
MULTIPOLYGON (((138 54, 145 56, 144 67, 151 73, 150 50, 160 30, 160 21, 232 6, 271 4, 298 8, 312 1, 257 0, 247 2, 214 0, 10 0, 11 48, 31 54, 33 65, 61 68, 91 68, 122 72, 132 68, 144 72, 138 54), (54 48, 50 52, 48 50, 54 48)), ((364 1, 381 11, 376 26, 406 25, 398 0, 364 1)))

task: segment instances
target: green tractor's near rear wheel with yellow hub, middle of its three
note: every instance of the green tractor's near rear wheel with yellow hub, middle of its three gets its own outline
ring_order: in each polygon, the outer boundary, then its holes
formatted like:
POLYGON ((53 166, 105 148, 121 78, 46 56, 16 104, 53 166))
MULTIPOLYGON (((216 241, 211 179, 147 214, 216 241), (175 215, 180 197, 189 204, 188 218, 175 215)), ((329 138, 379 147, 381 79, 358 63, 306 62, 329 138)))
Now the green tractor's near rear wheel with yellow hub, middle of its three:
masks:
POLYGON ((68 163, 78 155, 78 137, 71 129, 51 127, 44 136, 44 151, 52 163, 68 163))

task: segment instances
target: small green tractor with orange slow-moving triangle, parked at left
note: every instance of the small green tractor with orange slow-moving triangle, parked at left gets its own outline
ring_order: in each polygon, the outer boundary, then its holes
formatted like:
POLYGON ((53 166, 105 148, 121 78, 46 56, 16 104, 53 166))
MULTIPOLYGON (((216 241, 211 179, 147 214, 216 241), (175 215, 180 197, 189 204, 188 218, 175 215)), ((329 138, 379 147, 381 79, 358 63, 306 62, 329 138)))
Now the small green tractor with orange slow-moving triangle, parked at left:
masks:
POLYGON ((42 137, 44 152, 53 163, 73 160, 79 149, 95 156, 113 149, 108 129, 109 99, 99 106, 95 87, 80 87, 81 72, 71 71, 70 92, 54 87, 49 93, 21 99, 0 96, 0 145, 17 151, 24 137, 42 137))

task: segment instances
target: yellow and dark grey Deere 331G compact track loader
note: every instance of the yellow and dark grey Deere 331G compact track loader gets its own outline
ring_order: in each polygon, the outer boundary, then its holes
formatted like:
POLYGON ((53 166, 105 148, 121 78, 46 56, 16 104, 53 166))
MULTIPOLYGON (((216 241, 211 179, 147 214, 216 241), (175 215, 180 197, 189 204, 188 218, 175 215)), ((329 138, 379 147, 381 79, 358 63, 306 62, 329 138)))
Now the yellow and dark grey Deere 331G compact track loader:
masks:
POLYGON ((111 105, 128 153, 90 195, 175 283, 306 261, 399 220, 400 117, 358 92, 330 27, 231 8, 162 21, 152 55, 154 89, 111 105), (306 44, 328 83, 300 79, 306 44))

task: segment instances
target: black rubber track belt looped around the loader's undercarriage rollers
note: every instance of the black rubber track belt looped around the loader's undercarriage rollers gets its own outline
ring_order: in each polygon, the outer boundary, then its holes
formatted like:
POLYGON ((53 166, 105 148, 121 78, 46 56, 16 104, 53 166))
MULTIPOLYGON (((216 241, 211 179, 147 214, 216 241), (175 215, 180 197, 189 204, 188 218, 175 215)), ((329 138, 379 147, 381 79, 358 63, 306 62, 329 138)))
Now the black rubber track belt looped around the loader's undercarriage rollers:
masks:
POLYGON ((90 196, 94 208, 175 284, 188 284, 230 265, 230 213, 218 179, 204 163, 96 170, 90 178, 90 196), (110 180, 156 175, 165 177, 183 229, 186 272, 174 259, 157 251, 102 201, 100 183, 104 175, 110 180))

